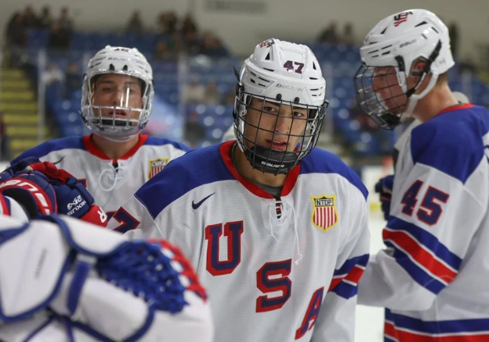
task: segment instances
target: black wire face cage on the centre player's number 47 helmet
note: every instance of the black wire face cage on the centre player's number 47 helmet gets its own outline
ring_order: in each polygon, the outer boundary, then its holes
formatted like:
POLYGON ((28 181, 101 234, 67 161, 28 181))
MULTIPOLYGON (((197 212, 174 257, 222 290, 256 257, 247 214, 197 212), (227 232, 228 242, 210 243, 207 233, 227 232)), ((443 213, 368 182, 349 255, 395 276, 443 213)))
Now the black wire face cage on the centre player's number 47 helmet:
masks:
POLYGON ((233 113, 237 141, 254 169, 286 174, 316 146, 328 102, 311 106, 300 104, 298 97, 295 100, 238 90, 233 113), (252 98, 258 100, 256 107, 251 106, 252 98), (274 113, 267 111, 269 104, 276 109, 274 113), (286 132, 277 131, 280 120, 287 120, 286 132))

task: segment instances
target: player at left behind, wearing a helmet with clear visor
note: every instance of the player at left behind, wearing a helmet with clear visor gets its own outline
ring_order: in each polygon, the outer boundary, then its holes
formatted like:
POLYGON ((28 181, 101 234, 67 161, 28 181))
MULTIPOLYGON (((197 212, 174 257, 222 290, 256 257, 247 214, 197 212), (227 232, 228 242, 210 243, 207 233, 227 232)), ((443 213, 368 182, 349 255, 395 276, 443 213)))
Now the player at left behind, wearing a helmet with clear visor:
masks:
POLYGON ((153 71, 135 48, 106 46, 90 59, 81 115, 92 130, 83 137, 47 141, 13 163, 35 156, 83 180, 96 202, 113 214, 148 179, 188 148, 139 134, 153 106, 153 71))

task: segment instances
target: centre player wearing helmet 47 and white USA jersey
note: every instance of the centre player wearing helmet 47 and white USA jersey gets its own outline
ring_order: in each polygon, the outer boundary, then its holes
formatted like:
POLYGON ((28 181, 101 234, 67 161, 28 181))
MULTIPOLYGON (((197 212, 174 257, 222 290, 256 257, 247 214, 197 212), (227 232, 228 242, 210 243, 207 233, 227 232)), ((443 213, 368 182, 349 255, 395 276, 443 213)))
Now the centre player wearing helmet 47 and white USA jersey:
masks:
POLYGON ((212 300, 215 341, 353 341, 367 191, 314 148, 319 63, 305 45, 270 39, 238 77, 237 141, 178 158, 108 227, 182 248, 212 300))

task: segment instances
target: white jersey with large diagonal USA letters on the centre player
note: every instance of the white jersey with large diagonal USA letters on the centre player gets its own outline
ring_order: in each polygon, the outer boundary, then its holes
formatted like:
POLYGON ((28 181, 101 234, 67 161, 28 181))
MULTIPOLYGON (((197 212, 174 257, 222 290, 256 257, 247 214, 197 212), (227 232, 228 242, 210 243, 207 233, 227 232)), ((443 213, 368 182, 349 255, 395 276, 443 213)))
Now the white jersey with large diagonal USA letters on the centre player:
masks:
POLYGON ((353 341, 369 251, 366 188, 316 148, 277 201, 235 170, 234 143, 178 158, 108 227, 182 249, 207 288, 217 342, 353 341))

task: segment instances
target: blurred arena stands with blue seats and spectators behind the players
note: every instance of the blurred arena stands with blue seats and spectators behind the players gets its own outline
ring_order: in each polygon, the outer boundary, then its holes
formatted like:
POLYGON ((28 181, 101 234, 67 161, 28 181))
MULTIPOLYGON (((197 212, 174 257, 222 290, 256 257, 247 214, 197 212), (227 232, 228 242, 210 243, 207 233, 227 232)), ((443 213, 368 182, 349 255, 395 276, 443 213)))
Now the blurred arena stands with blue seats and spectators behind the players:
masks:
MULTIPOLYGON (((222 139, 233 122, 233 67, 239 69, 247 56, 231 51, 217 32, 201 27, 191 14, 164 10, 155 13, 149 25, 134 10, 124 20, 112 32, 98 32, 78 30, 69 7, 52 13, 47 5, 27 5, 11 14, 0 75, 2 159, 45 139, 87 132, 78 114, 82 75, 89 58, 108 44, 137 47, 153 66, 156 96, 147 133, 191 147, 222 139)), ((455 22, 447 25, 457 62, 449 72, 452 90, 464 92, 474 104, 489 106, 487 70, 459 58, 459 28, 455 22)), ((388 162, 385 157, 401 129, 379 129, 356 106, 353 75, 364 34, 355 32, 354 21, 333 21, 317 37, 298 42, 311 47, 327 80, 330 105, 319 146, 358 168, 388 162)))

